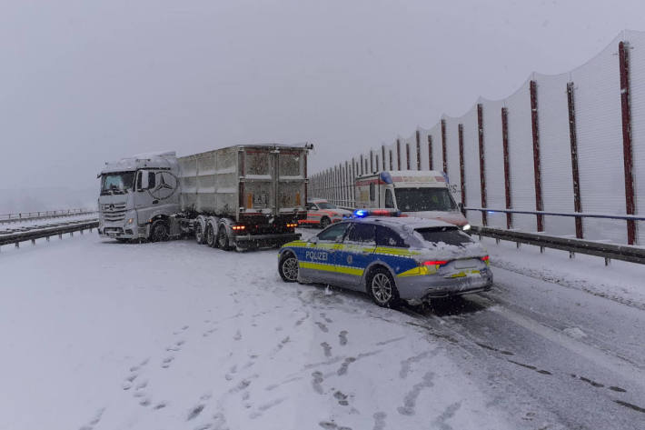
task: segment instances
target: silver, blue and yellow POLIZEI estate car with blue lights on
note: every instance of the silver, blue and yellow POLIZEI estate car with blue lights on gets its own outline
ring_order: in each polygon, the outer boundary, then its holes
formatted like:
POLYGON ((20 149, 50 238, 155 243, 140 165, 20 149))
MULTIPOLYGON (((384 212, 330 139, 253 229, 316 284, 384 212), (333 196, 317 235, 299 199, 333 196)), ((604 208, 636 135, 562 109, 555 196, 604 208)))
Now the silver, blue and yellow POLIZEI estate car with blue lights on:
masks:
POLYGON ((382 212, 359 210, 358 217, 330 225, 307 241, 283 245, 278 255, 283 281, 364 291, 384 307, 491 289, 486 251, 458 226, 372 217, 382 212))

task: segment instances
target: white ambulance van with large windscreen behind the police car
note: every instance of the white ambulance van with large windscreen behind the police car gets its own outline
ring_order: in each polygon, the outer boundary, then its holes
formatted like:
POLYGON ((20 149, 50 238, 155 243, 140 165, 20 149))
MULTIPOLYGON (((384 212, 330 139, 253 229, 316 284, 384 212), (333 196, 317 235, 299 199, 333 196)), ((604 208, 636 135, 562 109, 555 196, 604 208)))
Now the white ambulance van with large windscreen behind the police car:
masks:
POLYGON ((464 230, 471 227, 452 198, 443 172, 382 171, 357 177, 354 186, 357 208, 398 209, 402 215, 438 219, 464 230))

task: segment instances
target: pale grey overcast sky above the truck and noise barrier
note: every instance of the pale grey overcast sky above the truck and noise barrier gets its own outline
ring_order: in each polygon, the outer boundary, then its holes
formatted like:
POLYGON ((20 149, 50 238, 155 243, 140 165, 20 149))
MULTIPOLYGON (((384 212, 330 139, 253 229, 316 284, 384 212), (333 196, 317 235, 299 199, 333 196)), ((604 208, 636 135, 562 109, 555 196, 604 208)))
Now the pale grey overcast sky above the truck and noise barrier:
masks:
POLYGON ((313 142, 310 172, 561 73, 645 2, 0 0, 0 188, 313 142))

